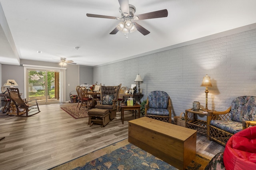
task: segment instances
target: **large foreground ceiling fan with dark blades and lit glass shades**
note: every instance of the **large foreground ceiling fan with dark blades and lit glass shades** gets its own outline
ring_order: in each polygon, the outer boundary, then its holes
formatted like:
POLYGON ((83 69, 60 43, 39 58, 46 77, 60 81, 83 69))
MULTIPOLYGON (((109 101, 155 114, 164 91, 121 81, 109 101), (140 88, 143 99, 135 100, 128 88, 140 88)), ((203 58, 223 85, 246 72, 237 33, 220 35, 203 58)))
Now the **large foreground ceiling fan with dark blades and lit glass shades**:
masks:
POLYGON ((141 25, 132 20, 147 20, 152 18, 163 18, 168 16, 168 11, 166 9, 134 16, 134 13, 136 12, 135 6, 129 4, 128 0, 118 0, 118 2, 120 4, 119 12, 121 14, 121 18, 97 14, 86 14, 86 16, 94 18, 109 18, 115 20, 122 20, 120 23, 118 23, 116 28, 110 32, 110 34, 116 34, 118 31, 121 31, 126 35, 136 30, 138 30, 143 35, 148 35, 150 33, 150 31, 148 31, 147 29, 145 29, 144 27, 142 27, 141 25))

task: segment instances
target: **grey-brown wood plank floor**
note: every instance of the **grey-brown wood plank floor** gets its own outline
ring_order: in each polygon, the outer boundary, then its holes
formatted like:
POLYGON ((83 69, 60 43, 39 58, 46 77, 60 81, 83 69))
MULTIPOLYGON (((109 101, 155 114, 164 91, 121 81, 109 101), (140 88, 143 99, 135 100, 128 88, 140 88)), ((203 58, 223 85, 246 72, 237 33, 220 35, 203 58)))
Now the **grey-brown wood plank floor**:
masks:
MULTIPOLYGON (((31 117, 7 116, 0 112, 0 169, 46 170, 128 137, 131 111, 124 124, 116 119, 105 127, 88 125, 88 117, 74 119, 60 107, 76 104, 41 105, 31 117)), ((211 159, 224 147, 197 135, 197 153, 211 159)))

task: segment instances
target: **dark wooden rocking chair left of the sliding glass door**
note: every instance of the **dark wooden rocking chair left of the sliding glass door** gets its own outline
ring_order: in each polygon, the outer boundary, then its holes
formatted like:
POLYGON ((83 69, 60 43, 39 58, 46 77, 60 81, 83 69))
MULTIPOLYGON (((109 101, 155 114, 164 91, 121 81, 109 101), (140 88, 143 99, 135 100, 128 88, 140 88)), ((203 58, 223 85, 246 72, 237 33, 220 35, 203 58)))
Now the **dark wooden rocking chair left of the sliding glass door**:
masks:
POLYGON ((7 91, 16 106, 16 116, 32 116, 40 112, 36 99, 30 101, 22 99, 18 88, 7 88, 7 91))

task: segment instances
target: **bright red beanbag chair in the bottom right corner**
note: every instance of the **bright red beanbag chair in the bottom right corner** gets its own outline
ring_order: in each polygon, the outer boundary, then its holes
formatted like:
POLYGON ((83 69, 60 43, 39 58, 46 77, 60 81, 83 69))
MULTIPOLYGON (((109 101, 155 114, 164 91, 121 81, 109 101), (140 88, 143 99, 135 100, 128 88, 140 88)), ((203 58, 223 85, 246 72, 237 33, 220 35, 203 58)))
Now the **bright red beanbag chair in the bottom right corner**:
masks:
POLYGON ((226 170, 256 169, 256 126, 230 137, 226 143, 223 161, 226 170))

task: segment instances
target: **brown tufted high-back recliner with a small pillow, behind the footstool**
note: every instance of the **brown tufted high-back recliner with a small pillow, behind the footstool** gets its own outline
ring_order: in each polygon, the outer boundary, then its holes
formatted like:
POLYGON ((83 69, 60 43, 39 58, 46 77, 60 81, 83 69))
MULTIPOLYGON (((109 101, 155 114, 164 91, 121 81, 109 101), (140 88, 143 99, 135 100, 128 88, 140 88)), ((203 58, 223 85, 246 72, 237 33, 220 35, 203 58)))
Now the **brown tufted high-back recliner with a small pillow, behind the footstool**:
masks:
POLYGON ((108 109, 110 120, 116 117, 116 102, 119 96, 121 84, 118 86, 102 86, 100 84, 100 104, 96 104, 98 109, 108 109))

